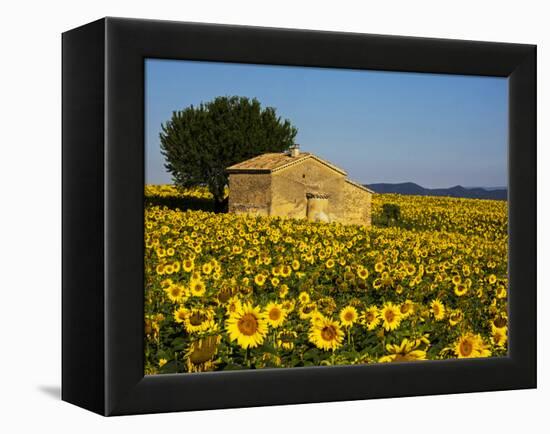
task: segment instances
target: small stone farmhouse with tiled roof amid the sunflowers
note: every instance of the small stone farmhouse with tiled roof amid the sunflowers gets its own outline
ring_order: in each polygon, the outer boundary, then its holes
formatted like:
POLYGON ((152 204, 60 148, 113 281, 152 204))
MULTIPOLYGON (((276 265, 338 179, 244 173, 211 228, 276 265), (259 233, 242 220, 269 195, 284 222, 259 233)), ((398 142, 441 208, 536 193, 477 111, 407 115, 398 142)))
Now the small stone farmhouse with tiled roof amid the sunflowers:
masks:
POLYGON ((229 212, 370 226, 373 192, 296 145, 227 168, 229 212))

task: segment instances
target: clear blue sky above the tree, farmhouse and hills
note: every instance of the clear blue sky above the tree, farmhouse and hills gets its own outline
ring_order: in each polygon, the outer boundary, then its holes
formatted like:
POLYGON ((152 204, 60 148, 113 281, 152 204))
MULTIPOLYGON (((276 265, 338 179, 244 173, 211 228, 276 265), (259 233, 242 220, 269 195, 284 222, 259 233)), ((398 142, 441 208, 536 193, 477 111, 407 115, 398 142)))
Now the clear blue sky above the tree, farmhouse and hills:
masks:
POLYGON ((147 183, 171 182, 159 132, 172 111, 239 95, 361 183, 507 185, 505 78, 148 59, 145 94, 147 183))

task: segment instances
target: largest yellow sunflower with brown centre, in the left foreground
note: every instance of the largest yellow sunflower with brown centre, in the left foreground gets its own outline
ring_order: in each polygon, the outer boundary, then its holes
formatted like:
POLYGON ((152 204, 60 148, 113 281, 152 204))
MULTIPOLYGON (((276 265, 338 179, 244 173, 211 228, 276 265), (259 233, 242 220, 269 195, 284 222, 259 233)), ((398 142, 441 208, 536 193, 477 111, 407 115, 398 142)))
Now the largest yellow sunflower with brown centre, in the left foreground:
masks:
POLYGON ((247 303, 233 312, 226 321, 231 341, 237 341, 241 348, 255 348, 261 345, 267 334, 267 321, 259 307, 247 303))

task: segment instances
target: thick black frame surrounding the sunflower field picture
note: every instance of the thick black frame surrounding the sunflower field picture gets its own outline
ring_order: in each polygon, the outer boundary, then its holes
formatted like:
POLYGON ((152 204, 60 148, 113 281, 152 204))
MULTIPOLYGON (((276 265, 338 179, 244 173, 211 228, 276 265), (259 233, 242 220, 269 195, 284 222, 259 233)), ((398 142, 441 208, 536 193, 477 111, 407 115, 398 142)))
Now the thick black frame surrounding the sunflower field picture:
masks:
POLYGON ((63 400, 123 415, 536 387, 536 46, 104 18, 62 51, 63 400), (508 77, 508 357, 144 376, 146 58, 508 77))

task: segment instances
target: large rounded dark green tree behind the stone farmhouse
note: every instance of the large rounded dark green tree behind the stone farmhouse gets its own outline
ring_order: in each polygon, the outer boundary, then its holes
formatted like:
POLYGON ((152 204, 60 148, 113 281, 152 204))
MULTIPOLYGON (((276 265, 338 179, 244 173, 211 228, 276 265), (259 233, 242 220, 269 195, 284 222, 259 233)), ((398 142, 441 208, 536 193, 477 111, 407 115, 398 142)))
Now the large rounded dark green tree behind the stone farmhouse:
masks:
POLYGON ((226 168, 266 152, 283 152, 297 130, 257 99, 217 97, 172 113, 162 125, 161 152, 174 183, 206 185, 215 209, 224 208, 226 168))

